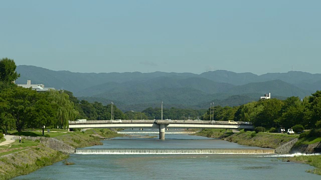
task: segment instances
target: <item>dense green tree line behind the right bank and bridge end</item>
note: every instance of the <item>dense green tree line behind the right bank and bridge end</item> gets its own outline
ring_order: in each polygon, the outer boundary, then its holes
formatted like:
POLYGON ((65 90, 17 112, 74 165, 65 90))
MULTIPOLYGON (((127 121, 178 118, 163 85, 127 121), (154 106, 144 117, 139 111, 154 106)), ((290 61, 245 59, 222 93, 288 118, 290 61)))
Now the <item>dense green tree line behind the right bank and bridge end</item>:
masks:
MULTIPOLYGON (((285 100, 260 99, 240 106, 214 106, 214 120, 249 121, 266 128, 291 128, 301 125, 305 129, 321 127, 321 91, 300 99, 291 96, 285 100)), ((209 108, 201 118, 209 120, 209 108)))

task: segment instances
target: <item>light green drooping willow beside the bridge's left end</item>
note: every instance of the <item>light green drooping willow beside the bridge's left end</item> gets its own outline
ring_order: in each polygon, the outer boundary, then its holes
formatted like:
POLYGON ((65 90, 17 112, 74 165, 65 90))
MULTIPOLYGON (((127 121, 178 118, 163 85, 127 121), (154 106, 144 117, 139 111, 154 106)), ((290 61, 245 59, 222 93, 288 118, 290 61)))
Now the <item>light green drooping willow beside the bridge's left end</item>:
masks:
POLYGON ((69 95, 64 91, 51 91, 52 102, 58 105, 57 119, 58 126, 61 129, 69 127, 68 120, 74 120, 78 111, 74 109, 74 103, 69 100, 69 95))

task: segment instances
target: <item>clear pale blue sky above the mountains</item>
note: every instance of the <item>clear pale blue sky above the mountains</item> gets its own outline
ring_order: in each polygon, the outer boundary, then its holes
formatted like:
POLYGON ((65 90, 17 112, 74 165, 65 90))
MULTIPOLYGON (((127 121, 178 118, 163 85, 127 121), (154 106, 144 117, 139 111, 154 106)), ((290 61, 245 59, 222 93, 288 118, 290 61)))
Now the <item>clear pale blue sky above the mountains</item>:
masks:
POLYGON ((1 0, 2 57, 72 72, 321 73, 321 0, 1 0))

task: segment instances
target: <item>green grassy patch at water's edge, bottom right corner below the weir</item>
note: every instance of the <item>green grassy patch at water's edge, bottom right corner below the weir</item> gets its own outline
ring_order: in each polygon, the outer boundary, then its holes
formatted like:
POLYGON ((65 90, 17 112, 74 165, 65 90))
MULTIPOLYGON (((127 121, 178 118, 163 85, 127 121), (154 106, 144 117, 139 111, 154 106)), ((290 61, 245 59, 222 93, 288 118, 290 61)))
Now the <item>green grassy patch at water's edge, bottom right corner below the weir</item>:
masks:
POLYGON ((306 170, 306 172, 315 173, 321 175, 321 155, 299 155, 294 157, 287 157, 283 160, 287 161, 299 161, 314 166, 314 169, 306 170))

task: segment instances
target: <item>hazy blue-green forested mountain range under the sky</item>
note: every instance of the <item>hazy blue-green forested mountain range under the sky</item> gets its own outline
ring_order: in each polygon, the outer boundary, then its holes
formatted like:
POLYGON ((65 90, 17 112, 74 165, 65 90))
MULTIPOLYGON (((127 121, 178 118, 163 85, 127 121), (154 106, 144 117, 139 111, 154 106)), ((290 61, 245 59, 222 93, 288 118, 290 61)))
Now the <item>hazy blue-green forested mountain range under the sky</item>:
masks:
POLYGON ((201 74, 176 72, 81 73, 18 65, 17 84, 44 84, 72 91, 79 99, 103 104, 111 101, 123 111, 147 107, 209 108, 241 105, 271 93, 272 98, 303 98, 321 89, 321 74, 301 71, 236 73, 227 70, 201 74))

